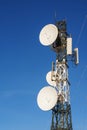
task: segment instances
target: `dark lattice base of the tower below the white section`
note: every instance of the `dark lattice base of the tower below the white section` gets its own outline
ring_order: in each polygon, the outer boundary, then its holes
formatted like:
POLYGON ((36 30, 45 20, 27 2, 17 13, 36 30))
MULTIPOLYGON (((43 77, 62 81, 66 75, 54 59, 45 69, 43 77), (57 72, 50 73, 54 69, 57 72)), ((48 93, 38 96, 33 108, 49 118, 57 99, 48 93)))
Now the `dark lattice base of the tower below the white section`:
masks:
POLYGON ((52 110, 50 130, 73 130, 71 119, 71 105, 59 102, 52 110))

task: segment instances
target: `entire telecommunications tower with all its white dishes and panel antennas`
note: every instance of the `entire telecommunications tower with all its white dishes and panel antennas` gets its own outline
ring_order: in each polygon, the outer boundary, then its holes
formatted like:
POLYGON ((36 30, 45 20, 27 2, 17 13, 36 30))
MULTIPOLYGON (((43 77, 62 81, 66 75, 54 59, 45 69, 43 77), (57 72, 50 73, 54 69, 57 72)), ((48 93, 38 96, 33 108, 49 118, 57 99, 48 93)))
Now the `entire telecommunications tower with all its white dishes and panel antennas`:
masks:
POLYGON ((49 86, 42 88, 37 96, 38 106, 43 111, 52 110, 50 130, 73 130, 68 61, 79 63, 78 48, 72 51, 72 37, 67 33, 65 20, 44 26, 39 39, 56 53, 56 61, 46 75, 49 86))

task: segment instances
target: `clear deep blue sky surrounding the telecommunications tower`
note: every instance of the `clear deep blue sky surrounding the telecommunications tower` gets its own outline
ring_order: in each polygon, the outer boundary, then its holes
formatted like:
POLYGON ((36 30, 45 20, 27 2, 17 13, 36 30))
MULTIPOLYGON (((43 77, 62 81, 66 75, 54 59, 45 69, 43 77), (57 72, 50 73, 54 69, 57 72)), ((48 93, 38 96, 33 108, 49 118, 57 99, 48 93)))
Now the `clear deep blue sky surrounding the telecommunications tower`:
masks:
POLYGON ((80 64, 70 64, 74 130, 87 129, 87 1, 0 1, 0 130, 50 130, 51 111, 37 106, 55 53, 39 42, 42 27, 67 20, 80 64))

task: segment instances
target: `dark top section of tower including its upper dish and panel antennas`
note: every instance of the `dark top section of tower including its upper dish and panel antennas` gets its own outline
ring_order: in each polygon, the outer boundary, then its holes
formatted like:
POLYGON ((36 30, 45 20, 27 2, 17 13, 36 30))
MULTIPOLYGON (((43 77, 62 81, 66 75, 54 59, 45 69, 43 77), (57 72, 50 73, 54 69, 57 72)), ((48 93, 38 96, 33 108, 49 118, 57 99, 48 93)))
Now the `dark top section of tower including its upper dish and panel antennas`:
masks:
POLYGON ((73 61, 76 65, 79 63, 78 48, 72 51, 72 37, 67 33, 67 24, 65 20, 55 24, 45 25, 39 34, 40 43, 56 52, 59 61, 73 61))

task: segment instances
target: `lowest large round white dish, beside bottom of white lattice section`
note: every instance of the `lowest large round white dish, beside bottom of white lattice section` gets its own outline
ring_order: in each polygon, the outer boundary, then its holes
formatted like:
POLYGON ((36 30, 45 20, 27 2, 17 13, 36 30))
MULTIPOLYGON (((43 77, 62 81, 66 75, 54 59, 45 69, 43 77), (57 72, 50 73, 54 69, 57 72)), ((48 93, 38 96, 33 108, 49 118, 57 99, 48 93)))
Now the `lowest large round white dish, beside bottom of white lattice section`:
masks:
POLYGON ((42 88, 37 96, 37 104, 43 111, 51 110, 57 103, 57 91, 51 86, 42 88))

